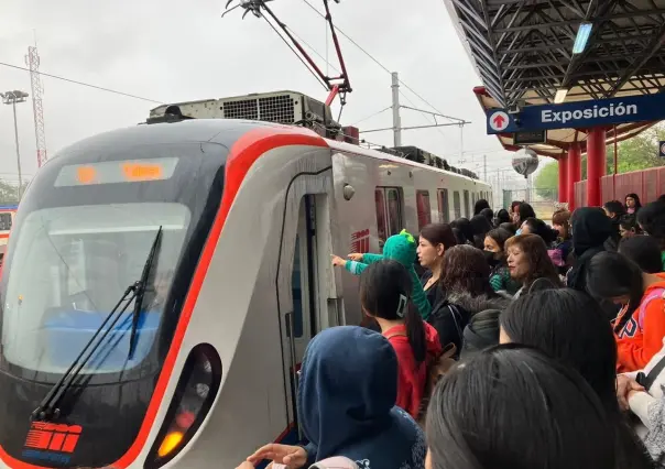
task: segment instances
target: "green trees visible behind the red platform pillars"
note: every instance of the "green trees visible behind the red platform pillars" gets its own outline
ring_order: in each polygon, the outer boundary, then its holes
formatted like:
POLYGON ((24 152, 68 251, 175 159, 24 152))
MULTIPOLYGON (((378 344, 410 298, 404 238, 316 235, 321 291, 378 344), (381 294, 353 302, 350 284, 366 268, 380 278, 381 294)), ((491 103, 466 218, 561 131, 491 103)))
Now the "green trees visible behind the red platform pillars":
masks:
MULTIPOLYGON (((637 137, 618 144, 618 174, 647 167, 663 166, 665 161, 658 157, 658 141, 665 140, 665 127, 654 126, 637 137)), ((614 173, 614 145, 607 148, 607 174, 614 173)), ((587 156, 581 157, 582 179, 587 177, 587 156)), ((558 187, 559 166, 557 162, 545 164, 534 178, 538 193, 548 193, 558 187)))

